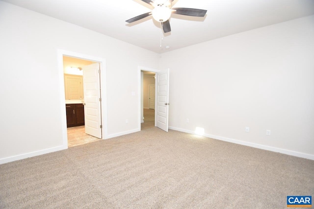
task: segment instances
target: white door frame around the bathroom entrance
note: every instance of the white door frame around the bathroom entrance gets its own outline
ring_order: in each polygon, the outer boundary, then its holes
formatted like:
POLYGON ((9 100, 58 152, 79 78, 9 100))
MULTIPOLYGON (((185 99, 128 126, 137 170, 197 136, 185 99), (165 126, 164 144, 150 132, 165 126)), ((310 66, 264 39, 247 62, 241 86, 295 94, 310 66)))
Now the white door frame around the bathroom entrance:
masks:
POLYGON ((67 135, 67 118, 65 110, 65 92, 64 92, 64 72, 63 72, 63 56, 75 57, 78 59, 90 60, 100 63, 101 78, 100 78, 100 87, 101 87, 101 97, 102 97, 102 124, 103 124, 103 139, 107 139, 108 136, 108 123, 107 123, 107 93, 106 93, 106 68, 105 68, 105 59, 94 57, 86 54, 80 54, 73 51, 66 51, 62 49, 57 50, 57 59, 58 59, 58 72, 59 72, 59 95, 60 95, 60 109, 61 109, 61 129, 62 129, 62 146, 63 149, 68 148, 68 135, 67 135))

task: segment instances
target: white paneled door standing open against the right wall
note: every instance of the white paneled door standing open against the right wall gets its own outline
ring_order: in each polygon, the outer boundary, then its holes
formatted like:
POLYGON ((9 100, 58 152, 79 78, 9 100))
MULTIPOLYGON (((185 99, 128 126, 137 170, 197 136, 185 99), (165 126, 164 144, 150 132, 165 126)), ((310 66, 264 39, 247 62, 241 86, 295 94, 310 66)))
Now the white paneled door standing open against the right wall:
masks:
POLYGON ((168 132, 169 69, 157 75, 157 127, 168 132))

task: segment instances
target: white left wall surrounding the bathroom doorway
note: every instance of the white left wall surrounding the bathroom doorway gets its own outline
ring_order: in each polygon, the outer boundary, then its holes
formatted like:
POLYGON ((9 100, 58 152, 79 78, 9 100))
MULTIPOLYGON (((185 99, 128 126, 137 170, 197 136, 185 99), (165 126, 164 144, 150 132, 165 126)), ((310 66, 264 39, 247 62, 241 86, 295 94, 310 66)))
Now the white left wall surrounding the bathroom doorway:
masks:
POLYGON ((108 137, 139 129, 138 66, 157 53, 2 1, 0 28, 0 163, 62 149, 58 49, 105 59, 108 137))

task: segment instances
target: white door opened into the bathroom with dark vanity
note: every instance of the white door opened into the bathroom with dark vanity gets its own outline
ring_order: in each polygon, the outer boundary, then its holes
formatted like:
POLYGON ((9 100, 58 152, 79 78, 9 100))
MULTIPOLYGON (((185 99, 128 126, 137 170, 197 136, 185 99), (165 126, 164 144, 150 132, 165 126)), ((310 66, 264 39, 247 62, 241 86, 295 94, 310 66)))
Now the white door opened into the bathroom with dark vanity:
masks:
POLYGON ((85 133, 102 138, 99 63, 83 67, 85 133))

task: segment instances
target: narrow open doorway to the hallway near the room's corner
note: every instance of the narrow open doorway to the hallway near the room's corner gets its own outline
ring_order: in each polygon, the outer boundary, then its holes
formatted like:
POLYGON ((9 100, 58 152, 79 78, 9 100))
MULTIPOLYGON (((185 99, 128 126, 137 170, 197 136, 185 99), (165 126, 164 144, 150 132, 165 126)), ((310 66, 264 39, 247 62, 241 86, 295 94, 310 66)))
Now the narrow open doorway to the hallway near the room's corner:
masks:
POLYGON ((143 73, 142 97, 143 97, 143 119, 141 130, 155 127, 155 85, 156 73, 141 70, 143 73))

